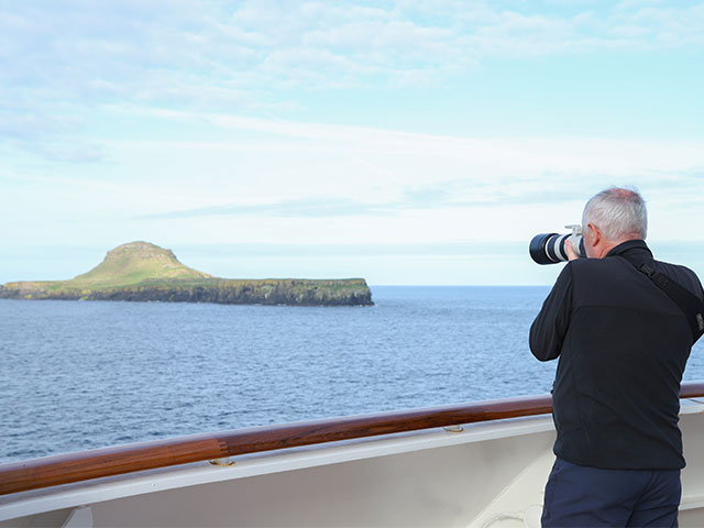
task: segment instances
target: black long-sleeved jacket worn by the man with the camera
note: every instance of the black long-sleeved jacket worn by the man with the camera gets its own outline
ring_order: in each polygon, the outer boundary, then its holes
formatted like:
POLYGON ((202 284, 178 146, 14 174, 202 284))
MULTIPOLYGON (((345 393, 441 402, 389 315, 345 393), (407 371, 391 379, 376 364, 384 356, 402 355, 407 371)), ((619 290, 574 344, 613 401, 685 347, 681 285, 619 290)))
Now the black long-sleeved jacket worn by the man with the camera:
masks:
POLYGON ((678 305, 634 266, 645 261, 704 298, 692 271, 653 261, 631 240, 604 258, 569 262, 530 328, 534 355, 560 358, 554 453, 568 462, 684 466, 679 393, 692 333, 678 305))

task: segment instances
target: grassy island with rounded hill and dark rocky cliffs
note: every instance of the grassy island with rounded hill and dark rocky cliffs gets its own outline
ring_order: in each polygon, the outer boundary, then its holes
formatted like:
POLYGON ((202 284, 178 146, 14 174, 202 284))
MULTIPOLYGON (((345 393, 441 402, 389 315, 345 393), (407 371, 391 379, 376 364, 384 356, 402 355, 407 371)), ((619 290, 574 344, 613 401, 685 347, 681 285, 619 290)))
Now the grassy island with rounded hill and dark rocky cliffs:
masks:
POLYGON ((0 298, 226 305, 373 305, 372 293, 363 278, 219 278, 185 266, 170 250, 141 241, 109 251, 98 266, 69 280, 7 283, 0 286, 0 298))

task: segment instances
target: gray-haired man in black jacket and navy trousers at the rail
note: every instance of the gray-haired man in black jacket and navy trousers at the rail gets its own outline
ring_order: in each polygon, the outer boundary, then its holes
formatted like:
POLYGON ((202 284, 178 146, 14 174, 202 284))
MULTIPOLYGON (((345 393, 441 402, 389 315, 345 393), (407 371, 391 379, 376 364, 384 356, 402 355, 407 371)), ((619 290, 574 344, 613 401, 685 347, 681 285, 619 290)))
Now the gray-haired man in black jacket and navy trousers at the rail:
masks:
POLYGON ((559 358, 542 525, 676 526, 680 382, 698 336, 645 272, 678 283, 697 305, 704 292, 692 271, 653 260, 638 193, 598 193, 582 226, 588 258, 568 248, 570 262, 530 328, 534 355, 559 358))

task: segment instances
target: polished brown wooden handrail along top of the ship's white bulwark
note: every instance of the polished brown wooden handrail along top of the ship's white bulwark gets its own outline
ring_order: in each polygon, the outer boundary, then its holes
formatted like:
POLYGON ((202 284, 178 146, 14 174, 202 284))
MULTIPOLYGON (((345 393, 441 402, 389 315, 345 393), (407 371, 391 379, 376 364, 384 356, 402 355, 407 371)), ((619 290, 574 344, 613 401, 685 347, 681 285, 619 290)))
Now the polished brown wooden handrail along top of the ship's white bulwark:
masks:
MULTIPOLYGON (((681 398, 704 396, 685 383, 681 398)), ((375 415, 235 429, 0 464, 0 495, 316 443, 550 413, 550 396, 527 396, 375 415)))

